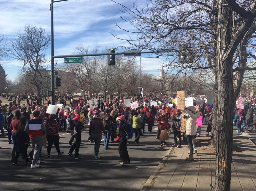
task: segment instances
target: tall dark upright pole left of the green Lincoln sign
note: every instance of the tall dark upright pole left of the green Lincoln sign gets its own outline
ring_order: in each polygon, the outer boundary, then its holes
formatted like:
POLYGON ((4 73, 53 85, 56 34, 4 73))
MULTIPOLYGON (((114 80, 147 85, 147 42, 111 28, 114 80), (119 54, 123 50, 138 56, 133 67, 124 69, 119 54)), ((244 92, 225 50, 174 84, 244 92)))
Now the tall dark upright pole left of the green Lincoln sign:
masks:
MULTIPOLYGON (((70 0, 57 0, 57 1, 53 1, 51 0, 51 4, 50 4, 50 11, 51 11, 51 92, 52 92, 52 95, 51 95, 51 104, 55 105, 55 99, 54 99, 54 96, 55 96, 55 85, 54 85, 54 40, 53 40, 53 3, 57 3, 57 2, 61 2, 61 1, 70 1, 70 0)), ((91 1, 91 0, 89 0, 91 1)))

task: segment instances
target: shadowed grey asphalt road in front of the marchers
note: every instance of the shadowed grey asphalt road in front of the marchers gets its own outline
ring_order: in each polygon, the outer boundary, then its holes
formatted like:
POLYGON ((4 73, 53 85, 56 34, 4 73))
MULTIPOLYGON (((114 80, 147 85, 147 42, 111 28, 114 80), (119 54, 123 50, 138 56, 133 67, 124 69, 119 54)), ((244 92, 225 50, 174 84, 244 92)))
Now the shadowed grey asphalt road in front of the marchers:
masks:
MULTIPOLYGON (((133 136, 127 145, 131 164, 120 166, 117 142, 109 143, 111 149, 104 150, 102 141, 100 159, 94 159, 94 143, 88 141, 88 130, 88 126, 85 126, 82 132, 84 144, 79 151, 84 158, 74 159, 68 155, 71 134, 62 131, 59 133, 60 150, 64 151, 64 155, 58 156, 53 146, 51 159, 46 159, 47 146, 43 147, 44 157, 36 169, 25 164, 22 157, 14 166, 10 162, 12 145, 8 144, 7 138, 0 138, 0 190, 140 190, 170 148, 160 147, 159 140, 155 138, 156 130, 144 133, 139 145, 135 144, 133 136)), ((171 145, 173 140, 167 142, 171 145)))

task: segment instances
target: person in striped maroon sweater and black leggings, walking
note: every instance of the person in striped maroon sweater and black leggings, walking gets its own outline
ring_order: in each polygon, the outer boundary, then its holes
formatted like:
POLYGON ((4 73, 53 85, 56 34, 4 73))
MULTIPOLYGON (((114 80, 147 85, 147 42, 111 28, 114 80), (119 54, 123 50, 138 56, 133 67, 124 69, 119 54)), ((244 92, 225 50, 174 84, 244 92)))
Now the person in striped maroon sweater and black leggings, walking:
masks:
POLYGON ((58 153, 58 156, 62 155, 64 152, 60 151, 59 148, 59 133, 58 129, 60 128, 60 125, 55 120, 53 115, 49 115, 49 117, 46 120, 45 127, 47 129, 46 139, 48 141, 47 146, 47 158, 51 158, 51 147, 54 144, 56 151, 58 153))

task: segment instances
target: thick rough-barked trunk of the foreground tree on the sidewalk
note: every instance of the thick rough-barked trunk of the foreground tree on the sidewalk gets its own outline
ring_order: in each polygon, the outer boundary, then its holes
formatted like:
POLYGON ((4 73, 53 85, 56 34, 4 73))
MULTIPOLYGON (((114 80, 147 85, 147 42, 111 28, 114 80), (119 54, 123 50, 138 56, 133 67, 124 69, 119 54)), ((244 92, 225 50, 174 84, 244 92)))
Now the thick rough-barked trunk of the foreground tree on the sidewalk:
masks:
POLYGON ((229 49, 232 40, 232 10, 222 0, 217 0, 217 4, 219 4, 218 39, 212 120, 212 131, 216 136, 215 190, 230 190, 234 105, 232 69, 234 50, 229 49))

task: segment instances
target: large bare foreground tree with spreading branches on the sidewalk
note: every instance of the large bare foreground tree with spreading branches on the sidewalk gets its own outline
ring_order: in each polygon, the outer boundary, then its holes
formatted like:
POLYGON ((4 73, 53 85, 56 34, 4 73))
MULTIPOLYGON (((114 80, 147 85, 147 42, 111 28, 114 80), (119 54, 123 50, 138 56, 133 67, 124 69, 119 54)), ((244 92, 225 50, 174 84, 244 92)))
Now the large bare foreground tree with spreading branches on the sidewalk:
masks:
POLYGON ((124 39, 131 45, 125 48, 171 50, 162 55, 185 77, 194 70, 214 75, 215 190, 229 190, 232 110, 244 71, 256 69, 246 66, 247 59, 255 59, 256 0, 156 0, 132 9, 121 6, 126 13, 122 18, 135 28, 126 30, 133 35, 124 39))

